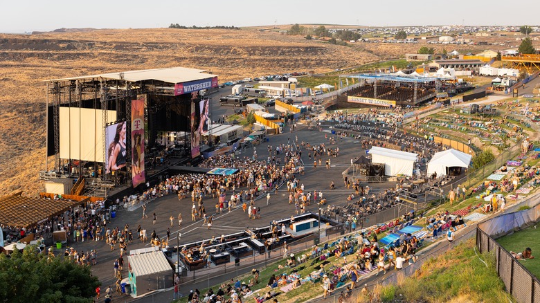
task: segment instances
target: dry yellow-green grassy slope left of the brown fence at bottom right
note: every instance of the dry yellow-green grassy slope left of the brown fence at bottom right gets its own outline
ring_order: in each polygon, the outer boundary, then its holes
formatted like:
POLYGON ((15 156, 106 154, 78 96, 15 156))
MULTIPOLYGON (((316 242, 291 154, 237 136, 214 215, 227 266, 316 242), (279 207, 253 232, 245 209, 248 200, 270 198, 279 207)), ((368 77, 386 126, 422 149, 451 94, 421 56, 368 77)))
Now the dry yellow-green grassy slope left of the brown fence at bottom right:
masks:
POLYGON ((480 255, 486 267, 473 248, 474 239, 469 239, 426 261, 417 277, 382 288, 381 301, 392 302, 403 295, 405 302, 514 302, 497 277, 494 255, 480 255))

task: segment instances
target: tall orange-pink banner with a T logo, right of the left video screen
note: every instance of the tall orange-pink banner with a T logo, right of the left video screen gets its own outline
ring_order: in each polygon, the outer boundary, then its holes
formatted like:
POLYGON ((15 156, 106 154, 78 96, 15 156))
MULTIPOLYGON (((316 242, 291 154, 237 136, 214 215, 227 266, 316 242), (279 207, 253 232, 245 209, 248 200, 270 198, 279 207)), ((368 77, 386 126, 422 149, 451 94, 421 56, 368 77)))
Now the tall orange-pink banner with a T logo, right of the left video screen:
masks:
POLYGON ((145 100, 132 100, 132 181, 145 183, 145 100))

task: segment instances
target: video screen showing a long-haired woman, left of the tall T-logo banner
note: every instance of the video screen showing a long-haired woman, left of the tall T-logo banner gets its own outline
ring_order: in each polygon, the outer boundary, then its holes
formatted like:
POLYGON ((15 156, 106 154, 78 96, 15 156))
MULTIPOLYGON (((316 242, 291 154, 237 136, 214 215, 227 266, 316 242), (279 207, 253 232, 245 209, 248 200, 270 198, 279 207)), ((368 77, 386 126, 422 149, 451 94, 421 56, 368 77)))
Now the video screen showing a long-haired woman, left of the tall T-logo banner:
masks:
POLYGON ((125 167, 125 125, 126 122, 109 125, 105 129, 107 152, 105 153, 105 173, 110 174, 125 167))

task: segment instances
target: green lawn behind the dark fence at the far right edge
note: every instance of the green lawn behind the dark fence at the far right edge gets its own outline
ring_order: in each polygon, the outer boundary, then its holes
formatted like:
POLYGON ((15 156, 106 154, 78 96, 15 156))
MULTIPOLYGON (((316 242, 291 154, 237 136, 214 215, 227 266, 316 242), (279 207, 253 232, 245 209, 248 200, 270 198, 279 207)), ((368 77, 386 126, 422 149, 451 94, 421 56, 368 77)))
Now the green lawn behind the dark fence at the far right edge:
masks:
POLYGON ((540 277, 540 229, 531 226, 519 232, 514 232, 512 235, 507 235, 497 239, 498 244, 501 244, 506 250, 514 252, 523 252, 525 248, 530 247, 534 259, 519 260, 525 268, 530 270, 532 274, 540 277))

